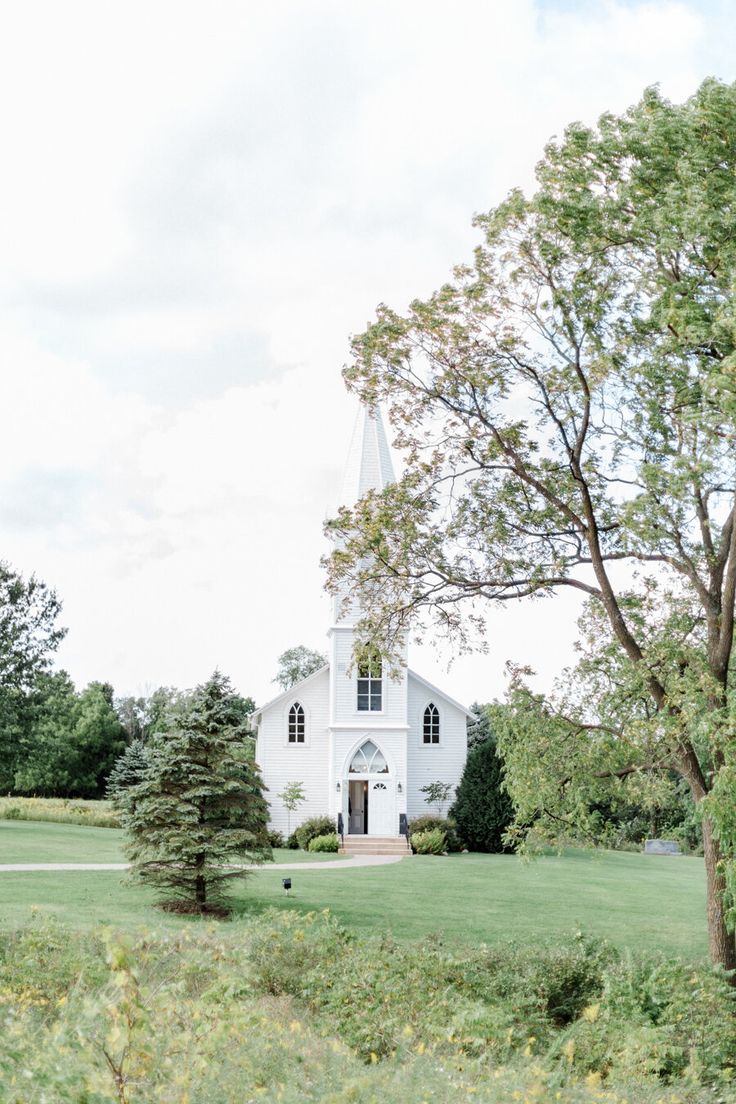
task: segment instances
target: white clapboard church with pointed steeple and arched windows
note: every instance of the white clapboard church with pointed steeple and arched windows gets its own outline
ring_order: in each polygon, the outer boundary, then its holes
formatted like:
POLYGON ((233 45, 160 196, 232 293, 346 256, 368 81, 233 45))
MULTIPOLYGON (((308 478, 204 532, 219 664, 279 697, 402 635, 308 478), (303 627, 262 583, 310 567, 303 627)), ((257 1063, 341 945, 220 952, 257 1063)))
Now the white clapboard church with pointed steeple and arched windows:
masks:
MULTIPOLYGON (((361 408, 345 469, 341 505, 394 480, 381 414, 361 408)), ((320 670, 256 710, 256 762, 268 787, 270 826, 286 834, 279 794, 300 782, 306 800, 291 816, 329 815, 346 850, 398 846, 407 818, 435 811, 420 793, 430 782, 460 781, 469 711, 409 670, 397 678, 380 662, 353 662, 355 606, 333 599, 329 659, 320 670), (351 847, 351 845, 355 845, 351 847)), ((406 843, 404 842, 404 847, 406 843)))

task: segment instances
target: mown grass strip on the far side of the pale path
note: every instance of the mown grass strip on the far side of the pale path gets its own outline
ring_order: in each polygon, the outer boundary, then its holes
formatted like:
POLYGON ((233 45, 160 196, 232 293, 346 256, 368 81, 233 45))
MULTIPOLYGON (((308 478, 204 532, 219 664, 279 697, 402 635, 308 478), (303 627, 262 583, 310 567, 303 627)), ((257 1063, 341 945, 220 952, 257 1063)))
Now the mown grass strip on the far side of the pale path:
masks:
MULTIPOLYGON (((324 862, 343 858, 307 851, 274 851, 275 862, 324 862)), ((0 820, 0 863, 6 862, 125 862, 119 828, 51 824, 42 820, 0 820)), ((1 899, 1 894, 0 894, 1 899)))

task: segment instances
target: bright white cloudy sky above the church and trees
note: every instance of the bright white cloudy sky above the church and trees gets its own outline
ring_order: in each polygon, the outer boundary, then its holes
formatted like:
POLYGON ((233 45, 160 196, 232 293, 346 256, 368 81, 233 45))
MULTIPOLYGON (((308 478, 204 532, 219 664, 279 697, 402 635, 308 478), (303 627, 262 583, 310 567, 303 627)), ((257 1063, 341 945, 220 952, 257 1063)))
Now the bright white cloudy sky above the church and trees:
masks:
MULTIPOLYGON (((323 650, 320 556, 378 302, 429 294, 544 142, 736 78, 736 0, 0 3, 0 558, 63 601, 79 686, 273 697, 323 650)), ((394 456, 401 470, 401 456, 394 456)), ((548 686, 576 603, 412 666, 548 686)))

